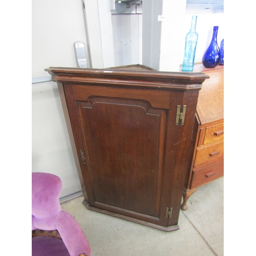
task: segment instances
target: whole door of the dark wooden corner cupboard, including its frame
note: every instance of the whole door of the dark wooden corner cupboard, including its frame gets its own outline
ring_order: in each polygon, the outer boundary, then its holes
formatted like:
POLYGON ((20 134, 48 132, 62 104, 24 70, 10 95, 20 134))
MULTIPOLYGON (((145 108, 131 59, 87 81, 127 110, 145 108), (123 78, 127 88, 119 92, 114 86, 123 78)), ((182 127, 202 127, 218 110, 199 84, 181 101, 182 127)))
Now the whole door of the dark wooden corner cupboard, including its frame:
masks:
POLYGON ((90 94, 90 87, 84 93, 79 85, 67 84, 64 88, 88 204, 167 226, 165 211, 170 205, 172 180, 164 181, 164 177, 173 177, 174 172, 176 108, 153 108, 148 102, 148 95, 153 95, 151 90, 143 90, 140 95, 131 89, 123 98, 113 88, 113 97, 105 96, 101 88, 93 91, 94 95, 90 94), (173 116, 174 131, 168 115, 173 116), (171 153, 166 156, 166 152, 171 153), (168 166, 164 167, 165 157, 168 166))

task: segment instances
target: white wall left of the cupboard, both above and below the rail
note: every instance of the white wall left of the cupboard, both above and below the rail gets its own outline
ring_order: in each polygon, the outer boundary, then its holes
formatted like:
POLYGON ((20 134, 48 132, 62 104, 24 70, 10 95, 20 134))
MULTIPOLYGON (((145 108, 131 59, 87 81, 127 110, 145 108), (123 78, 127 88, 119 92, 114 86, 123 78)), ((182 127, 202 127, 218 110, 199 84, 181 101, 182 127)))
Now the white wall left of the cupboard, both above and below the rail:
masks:
MULTIPOLYGON (((74 42, 86 41, 81 0, 32 1, 32 78, 49 67, 77 67, 74 42)), ((60 197, 81 190, 55 82, 32 84, 32 172, 62 180, 60 197)))

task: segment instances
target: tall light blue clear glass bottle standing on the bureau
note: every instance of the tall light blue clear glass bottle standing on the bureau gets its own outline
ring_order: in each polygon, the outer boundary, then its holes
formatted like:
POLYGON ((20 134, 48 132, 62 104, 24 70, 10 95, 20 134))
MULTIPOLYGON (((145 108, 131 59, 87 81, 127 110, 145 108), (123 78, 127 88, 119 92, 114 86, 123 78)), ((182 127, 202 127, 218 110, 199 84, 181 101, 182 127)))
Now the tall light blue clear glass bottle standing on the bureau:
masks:
POLYGON ((197 16, 192 16, 191 27, 186 35, 182 71, 193 71, 195 65, 195 54, 197 48, 198 33, 196 31, 197 16))

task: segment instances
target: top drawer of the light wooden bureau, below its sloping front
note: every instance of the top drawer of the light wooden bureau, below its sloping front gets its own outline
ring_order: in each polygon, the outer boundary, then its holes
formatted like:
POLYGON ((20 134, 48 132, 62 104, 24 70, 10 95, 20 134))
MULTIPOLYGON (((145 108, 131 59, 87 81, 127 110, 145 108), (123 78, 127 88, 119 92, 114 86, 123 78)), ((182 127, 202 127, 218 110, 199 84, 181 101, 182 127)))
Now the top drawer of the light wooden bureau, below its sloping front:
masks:
POLYGON ((213 144, 224 140, 224 123, 208 126, 205 129, 203 144, 213 144))

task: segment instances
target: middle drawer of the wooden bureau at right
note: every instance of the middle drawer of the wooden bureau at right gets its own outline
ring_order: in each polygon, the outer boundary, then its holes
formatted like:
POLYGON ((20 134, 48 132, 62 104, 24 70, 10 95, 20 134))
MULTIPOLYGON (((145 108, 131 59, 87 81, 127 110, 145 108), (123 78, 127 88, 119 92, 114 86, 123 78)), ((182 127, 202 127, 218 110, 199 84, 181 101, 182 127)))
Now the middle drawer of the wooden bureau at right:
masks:
POLYGON ((197 148, 194 167, 202 164, 210 164, 224 158, 224 142, 218 142, 208 146, 197 148))

